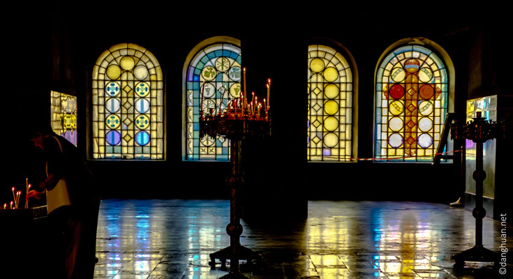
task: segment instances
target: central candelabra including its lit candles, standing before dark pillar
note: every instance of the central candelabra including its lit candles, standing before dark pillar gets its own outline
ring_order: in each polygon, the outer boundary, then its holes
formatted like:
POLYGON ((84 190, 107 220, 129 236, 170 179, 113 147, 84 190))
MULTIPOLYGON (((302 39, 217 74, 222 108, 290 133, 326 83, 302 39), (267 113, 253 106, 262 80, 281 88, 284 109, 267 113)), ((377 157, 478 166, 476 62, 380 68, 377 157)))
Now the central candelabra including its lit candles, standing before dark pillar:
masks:
MULTIPOLYGON (((271 121, 269 119, 269 88, 271 80, 267 83, 267 101, 263 105, 253 93, 251 103, 246 96, 246 68, 244 68, 244 93, 236 99, 228 101, 225 110, 211 108, 205 115, 204 107, 200 110, 200 137, 213 137, 223 135, 230 140, 231 172, 226 179, 230 188, 230 223, 226 232, 230 236, 230 246, 210 254, 211 269, 216 268, 216 259, 221 260, 221 269, 226 270, 226 259, 230 259, 230 272, 223 278, 247 278, 239 271, 239 259, 246 259, 248 264, 253 260, 261 260, 258 252, 241 246, 240 236, 242 225, 240 223, 239 190, 244 186, 244 168, 242 164, 243 142, 247 138, 262 138, 271 135, 271 121)), ((223 94, 224 95, 224 94, 223 94)), ((202 96, 203 98, 203 96, 202 96)))

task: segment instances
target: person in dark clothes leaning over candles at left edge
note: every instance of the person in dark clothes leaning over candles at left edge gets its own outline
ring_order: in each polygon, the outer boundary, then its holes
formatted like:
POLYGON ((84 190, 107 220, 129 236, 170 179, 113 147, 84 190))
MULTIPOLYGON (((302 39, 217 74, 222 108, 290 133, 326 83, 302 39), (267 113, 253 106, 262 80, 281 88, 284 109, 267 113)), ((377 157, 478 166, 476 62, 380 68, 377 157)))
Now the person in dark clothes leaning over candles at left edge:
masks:
POLYGON ((55 134, 50 123, 36 123, 30 140, 43 150, 46 177, 27 200, 46 193, 51 241, 57 245, 49 252, 57 272, 61 278, 93 278, 100 205, 93 175, 79 149, 55 134))

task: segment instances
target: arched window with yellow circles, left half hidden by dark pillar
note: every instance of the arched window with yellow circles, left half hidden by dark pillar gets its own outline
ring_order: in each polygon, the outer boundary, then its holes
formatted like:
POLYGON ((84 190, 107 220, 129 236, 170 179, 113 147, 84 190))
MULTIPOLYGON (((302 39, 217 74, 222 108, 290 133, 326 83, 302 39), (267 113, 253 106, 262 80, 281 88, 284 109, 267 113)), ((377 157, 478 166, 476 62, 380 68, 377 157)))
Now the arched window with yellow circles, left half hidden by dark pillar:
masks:
POLYGON ((352 157, 352 73, 340 52, 308 47, 308 161, 352 157))

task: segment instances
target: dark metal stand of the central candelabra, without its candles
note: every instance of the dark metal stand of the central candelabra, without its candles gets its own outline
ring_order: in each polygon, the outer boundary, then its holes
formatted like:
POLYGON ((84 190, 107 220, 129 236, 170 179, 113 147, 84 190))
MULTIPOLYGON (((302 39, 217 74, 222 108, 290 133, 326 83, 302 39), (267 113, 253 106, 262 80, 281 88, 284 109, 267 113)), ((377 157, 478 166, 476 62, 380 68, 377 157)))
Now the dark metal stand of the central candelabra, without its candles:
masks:
POLYGON ((253 250, 241 246, 240 205, 238 191, 244 186, 244 169, 242 166, 242 144, 246 138, 268 137, 271 134, 269 117, 251 117, 248 114, 231 114, 222 116, 201 116, 200 137, 208 135, 216 138, 224 135, 230 140, 231 173, 226 179, 230 188, 230 224, 226 232, 230 236, 230 246, 210 254, 211 269, 216 267, 216 259, 221 260, 221 270, 226 270, 226 259, 230 259, 230 273, 223 278, 247 278, 239 271, 239 259, 246 259, 248 264, 260 260, 262 256, 253 250))

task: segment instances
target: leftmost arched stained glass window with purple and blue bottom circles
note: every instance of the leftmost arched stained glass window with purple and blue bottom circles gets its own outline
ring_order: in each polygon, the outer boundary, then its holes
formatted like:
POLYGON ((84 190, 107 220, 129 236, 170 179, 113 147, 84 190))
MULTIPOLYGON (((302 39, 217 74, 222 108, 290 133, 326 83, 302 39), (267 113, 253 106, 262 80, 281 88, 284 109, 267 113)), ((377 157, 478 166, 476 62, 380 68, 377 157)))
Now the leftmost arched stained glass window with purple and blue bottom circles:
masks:
POLYGON ((105 50, 93 68, 93 157, 163 159, 162 70, 144 47, 105 50))

